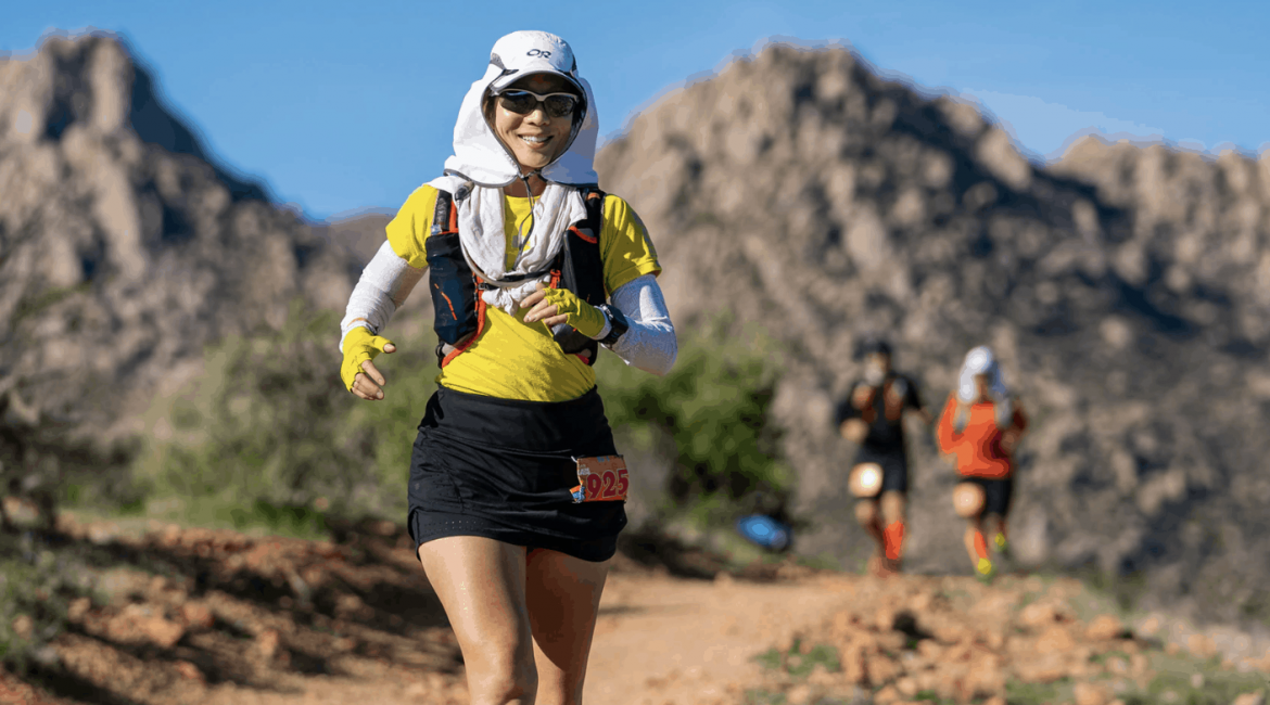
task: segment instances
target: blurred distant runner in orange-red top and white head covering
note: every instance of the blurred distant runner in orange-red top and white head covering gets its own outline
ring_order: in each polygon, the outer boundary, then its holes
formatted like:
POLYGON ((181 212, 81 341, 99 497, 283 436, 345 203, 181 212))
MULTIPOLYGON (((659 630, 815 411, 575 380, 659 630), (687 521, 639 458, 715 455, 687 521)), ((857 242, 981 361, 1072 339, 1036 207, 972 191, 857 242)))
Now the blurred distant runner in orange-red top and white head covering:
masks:
POLYGON ((994 566, 983 538, 984 524, 998 553, 1006 550, 1006 515, 1013 493, 1013 451, 1027 427, 1022 404, 1010 394, 992 350, 970 350, 936 429, 940 450, 955 456, 961 482, 954 489, 958 514, 968 520, 965 550, 975 572, 992 577, 994 566))

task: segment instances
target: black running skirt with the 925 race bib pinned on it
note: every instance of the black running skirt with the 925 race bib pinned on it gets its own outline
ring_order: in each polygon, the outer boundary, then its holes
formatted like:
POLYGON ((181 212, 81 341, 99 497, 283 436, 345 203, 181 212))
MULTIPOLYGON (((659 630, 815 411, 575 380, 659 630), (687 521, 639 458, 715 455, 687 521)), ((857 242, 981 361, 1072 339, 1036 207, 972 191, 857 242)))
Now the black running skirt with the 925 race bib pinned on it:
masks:
POLYGON ((573 458, 616 454, 594 388, 568 402, 525 402, 438 387, 410 458, 406 526, 415 548, 484 536, 607 560, 626 507, 573 503, 573 458))

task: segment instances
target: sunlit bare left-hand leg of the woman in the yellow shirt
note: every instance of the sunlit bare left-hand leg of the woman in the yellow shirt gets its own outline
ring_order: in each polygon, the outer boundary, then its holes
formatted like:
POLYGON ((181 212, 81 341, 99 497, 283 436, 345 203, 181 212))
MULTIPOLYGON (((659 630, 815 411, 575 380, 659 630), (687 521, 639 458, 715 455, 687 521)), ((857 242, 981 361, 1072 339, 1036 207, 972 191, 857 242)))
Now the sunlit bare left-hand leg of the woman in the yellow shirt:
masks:
POLYGON ((525 548, 450 536, 419 547, 419 560, 458 638, 472 705, 533 705, 525 548))

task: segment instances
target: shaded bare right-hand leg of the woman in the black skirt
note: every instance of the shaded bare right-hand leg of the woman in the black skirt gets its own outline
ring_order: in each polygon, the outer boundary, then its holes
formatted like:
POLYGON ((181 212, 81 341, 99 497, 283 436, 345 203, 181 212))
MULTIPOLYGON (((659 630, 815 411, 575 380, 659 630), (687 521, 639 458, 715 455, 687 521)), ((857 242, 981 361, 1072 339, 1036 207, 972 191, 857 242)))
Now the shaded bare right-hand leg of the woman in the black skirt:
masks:
POLYGON ((526 600, 538 669, 538 705, 580 705, 608 562, 593 563, 536 549, 527 566, 526 600))

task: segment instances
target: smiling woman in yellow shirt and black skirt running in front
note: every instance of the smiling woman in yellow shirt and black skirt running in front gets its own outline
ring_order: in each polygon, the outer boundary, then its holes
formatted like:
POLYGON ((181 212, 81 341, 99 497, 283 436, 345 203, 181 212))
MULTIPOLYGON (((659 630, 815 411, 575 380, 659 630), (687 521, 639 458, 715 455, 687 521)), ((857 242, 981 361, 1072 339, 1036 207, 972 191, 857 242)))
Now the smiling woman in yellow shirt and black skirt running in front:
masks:
POLYGON ((499 39, 444 176, 387 226, 342 323, 342 377, 384 398, 378 333, 429 269, 437 392, 414 443, 408 527, 458 638, 472 702, 582 702, 629 483, 592 365, 664 375, 677 345, 653 243, 597 188, 598 119, 573 51, 499 39))

